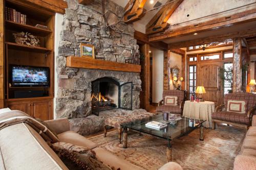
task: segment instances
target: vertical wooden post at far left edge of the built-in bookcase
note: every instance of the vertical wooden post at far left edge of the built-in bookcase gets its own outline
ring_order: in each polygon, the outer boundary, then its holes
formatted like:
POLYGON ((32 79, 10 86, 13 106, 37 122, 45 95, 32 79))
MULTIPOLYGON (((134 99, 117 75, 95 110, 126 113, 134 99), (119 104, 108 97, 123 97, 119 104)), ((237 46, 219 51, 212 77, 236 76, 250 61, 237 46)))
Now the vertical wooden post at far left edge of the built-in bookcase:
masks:
POLYGON ((0 1, 0 108, 4 108, 4 1, 0 1))

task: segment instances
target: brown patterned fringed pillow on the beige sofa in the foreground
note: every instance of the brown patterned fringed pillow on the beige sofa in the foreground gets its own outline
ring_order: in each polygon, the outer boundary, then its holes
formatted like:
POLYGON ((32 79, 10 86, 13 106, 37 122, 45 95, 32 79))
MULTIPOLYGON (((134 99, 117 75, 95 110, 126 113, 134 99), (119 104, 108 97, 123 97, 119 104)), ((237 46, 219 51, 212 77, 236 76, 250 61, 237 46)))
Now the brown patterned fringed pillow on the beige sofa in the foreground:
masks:
POLYGON ((48 144, 69 169, 113 170, 97 160, 95 152, 91 149, 66 142, 53 144, 48 142, 48 144))

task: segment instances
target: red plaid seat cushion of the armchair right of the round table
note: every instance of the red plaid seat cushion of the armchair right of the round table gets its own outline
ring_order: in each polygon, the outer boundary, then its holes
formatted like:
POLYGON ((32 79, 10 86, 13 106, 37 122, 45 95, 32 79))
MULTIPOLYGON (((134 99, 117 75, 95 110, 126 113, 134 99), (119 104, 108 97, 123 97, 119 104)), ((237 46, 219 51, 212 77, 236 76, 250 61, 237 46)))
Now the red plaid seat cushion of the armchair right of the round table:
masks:
POLYGON ((239 123, 239 124, 246 124, 250 123, 249 117, 247 114, 235 113, 235 112, 228 112, 228 111, 221 111, 221 112, 214 112, 211 114, 213 119, 223 120, 226 122, 232 123, 239 123))

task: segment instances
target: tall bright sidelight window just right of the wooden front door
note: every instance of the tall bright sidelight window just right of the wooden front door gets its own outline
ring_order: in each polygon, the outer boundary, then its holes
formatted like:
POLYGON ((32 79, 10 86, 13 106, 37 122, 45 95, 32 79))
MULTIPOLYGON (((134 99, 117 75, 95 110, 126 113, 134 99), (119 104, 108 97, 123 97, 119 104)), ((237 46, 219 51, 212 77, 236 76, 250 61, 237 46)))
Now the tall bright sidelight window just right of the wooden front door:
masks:
POLYGON ((233 84, 233 64, 224 63, 224 95, 232 89, 233 84))

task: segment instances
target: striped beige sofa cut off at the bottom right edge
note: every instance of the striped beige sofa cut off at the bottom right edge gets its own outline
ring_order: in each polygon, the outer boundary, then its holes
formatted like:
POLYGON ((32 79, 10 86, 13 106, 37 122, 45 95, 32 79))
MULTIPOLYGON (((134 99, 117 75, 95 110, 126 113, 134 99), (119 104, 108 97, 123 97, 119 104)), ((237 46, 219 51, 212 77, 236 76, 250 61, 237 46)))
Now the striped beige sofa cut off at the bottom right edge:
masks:
POLYGON ((240 154, 234 159, 234 170, 256 169, 256 115, 248 129, 240 154))

